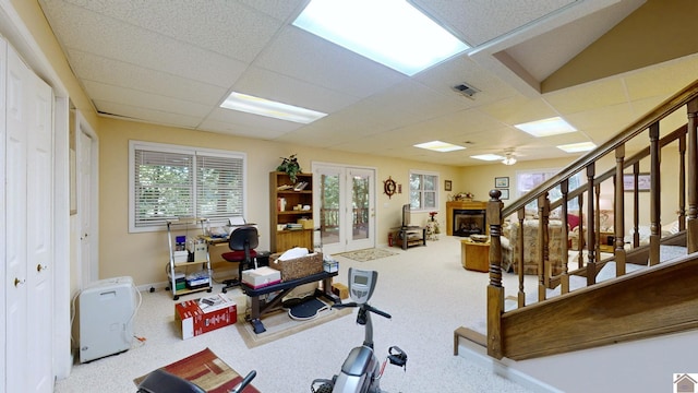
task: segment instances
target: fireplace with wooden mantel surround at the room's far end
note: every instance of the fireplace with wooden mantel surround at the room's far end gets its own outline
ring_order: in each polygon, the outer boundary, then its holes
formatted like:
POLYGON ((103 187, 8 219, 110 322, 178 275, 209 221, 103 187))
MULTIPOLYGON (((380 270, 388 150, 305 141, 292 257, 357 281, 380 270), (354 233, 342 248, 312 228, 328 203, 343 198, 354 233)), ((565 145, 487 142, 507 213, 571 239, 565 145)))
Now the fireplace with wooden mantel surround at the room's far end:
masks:
POLYGON ((470 236, 488 235, 486 202, 448 201, 446 202, 446 235, 470 236))

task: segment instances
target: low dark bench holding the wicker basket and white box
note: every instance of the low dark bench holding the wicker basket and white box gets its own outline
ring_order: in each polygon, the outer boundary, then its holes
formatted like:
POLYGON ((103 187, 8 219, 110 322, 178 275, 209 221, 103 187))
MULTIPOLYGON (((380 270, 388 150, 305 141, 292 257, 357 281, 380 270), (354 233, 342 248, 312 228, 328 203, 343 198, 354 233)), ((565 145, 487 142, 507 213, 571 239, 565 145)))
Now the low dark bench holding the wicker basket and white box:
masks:
POLYGON ((339 273, 338 272, 333 272, 333 273, 321 272, 321 273, 309 275, 308 277, 291 279, 288 282, 274 284, 274 285, 265 286, 257 289, 254 289, 248 286, 246 284, 242 283, 240 287, 242 288, 242 291, 244 291, 244 294, 250 297, 250 300, 251 300, 250 323, 252 323, 252 326, 254 327, 254 333, 260 334, 266 331, 266 329, 264 327, 264 324, 261 321, 262 315, 267 312, 278 310, 281 307, 280 306, 281 299, 299 285, 322 281, 323 291, 318 293, 317 295, 328 298, 329 300, 334 301, 335 305, 340 303, 341 300, 339 299, 339 297, 332 293, 332 277, 336 276, 337 274, 339 273), (279 290, 281 293, 278 294, 269 302, 263 303, 263 301, 260 299, 260 296, 262 295, 266 295, 266 294, 270 294, 279 290))

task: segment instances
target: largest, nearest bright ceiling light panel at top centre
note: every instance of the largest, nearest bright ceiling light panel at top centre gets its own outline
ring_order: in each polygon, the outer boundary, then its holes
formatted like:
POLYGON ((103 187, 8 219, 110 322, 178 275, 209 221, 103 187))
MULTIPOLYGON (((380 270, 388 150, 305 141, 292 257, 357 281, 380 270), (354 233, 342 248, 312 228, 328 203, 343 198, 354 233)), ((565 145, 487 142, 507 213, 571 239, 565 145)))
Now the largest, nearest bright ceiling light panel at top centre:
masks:
POLYGON ((469 48, 406 0, 312 0, 293 25, 410 76, 469 48))

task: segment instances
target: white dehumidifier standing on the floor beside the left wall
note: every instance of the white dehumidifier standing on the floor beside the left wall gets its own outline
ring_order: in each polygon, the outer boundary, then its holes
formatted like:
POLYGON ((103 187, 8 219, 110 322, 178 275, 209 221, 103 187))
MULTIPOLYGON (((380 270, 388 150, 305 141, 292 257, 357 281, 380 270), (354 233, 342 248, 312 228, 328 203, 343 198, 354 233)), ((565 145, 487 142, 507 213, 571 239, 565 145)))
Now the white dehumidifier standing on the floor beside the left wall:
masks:
POLYGON ((79 297, 80 362, 131 348, 136 291, 128 276, 100 279, 83 289, 79 297))

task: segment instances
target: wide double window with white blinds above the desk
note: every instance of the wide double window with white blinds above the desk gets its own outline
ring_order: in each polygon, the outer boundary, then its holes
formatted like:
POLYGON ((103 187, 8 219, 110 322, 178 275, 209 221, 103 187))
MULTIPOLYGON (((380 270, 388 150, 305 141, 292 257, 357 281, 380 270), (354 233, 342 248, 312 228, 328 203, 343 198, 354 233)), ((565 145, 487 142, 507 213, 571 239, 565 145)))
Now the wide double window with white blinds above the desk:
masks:
POLYGON ((130 142, 130 231, 160 230, 167 219, 244 217, 245 155, 130 142))

